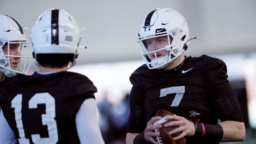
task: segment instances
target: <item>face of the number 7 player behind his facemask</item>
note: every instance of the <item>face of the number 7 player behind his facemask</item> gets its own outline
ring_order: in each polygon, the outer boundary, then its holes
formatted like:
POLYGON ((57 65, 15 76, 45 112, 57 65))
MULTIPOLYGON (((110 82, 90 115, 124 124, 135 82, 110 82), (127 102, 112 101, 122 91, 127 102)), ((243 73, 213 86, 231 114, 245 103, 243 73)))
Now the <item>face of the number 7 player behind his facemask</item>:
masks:
MULTIPOLYGON (((170 37, 170 41, 172 41, 172 38, 170 37)), ((154 50, 158 50, 161 48, 164 48, 165 46, 168 46, 168 36, 162 36, 162 37, 155 37, 145 40, 148 52, 152 52, 154 50)), ((162 57, 165 56, 167 53, 166 50, 159 50, 156 52, 156 57, 162 57)), ((150 54, 150 59, 155 59, 155 54, 150 54)))

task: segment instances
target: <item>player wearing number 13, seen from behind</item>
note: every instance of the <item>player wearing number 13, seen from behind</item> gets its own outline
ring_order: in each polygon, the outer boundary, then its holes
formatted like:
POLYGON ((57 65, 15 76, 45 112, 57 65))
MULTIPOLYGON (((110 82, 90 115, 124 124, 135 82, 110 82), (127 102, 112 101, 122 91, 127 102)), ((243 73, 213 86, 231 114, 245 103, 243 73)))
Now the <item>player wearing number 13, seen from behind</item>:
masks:
POLYGON ((46 10, 34 22, 30 39, 39 71, 18 74, 6 82, 1 96, 16 142, 104 144, 96 87, 86 76, 67 71, 76 63, 81 39, 74 17, 63 9, 46 10))

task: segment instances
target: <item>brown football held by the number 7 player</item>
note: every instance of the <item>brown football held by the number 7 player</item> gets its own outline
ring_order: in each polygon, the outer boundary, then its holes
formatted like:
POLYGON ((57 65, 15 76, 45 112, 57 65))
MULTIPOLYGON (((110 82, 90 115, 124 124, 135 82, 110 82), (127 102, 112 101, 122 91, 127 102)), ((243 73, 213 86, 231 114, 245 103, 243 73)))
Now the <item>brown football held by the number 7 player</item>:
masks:
POLYGON ((164 124, 171 122, 171 120, 166 121, 165 117, 169 116, 169 115, 173 115, 173 113, 166 111, 166 110, 159 110, 155 116, 160 116, 162 117, 160 120, 156 121, 154 123, 154 125, 157 124, 161 124, 162 128, 160 129, 155 129, 155 132, 160 133, 160 136, 155 137, 156 141, 158 141, 159 144, 186 144, 187 140, 185 137, 183 137, 182 139, 179 140, 174 140, 174 137, 177 137, 178 135, 181 134, 181 132, 179 133, 175 133, 172 135, 169 135, 168 132, 170 132, 171 130, 177 128, 178 126, 172 126, 172 127, 165 127, 164 124))

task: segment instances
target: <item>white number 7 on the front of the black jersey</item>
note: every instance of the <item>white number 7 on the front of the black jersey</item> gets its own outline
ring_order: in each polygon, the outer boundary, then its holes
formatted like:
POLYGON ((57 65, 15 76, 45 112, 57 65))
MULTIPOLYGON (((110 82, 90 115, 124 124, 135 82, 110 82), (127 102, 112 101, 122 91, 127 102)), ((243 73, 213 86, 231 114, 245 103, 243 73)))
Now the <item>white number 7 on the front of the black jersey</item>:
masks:
POLYGON ((171 107, 176 107, 180 104, 181 99, 184 95, 184 92, 185 92, 185 86, 167 87, 160 90, 160 97, 164 97, 168 94, 176 94, 171 104, 171 107))

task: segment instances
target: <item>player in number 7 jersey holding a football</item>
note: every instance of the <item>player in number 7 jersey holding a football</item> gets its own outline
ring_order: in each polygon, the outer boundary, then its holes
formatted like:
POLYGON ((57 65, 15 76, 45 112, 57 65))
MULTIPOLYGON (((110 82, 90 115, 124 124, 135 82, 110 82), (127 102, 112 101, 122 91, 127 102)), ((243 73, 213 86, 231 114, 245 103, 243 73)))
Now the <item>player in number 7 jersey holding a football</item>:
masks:
POLYGON ((179 126, 168 132, 182 132, 174 140, 218 144, 245 139, 225 63, 207 55, 186 57, 191 39, 186 19, 174 9, 156 9, 145 17, 137 39, 145 64, 130 76, 127 144, 158 144, 154 130, 161 125, 153 123, 161 119, 155 117, 159 109, 175 114, 165 125, 179 126))

